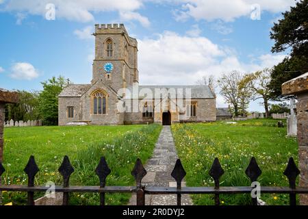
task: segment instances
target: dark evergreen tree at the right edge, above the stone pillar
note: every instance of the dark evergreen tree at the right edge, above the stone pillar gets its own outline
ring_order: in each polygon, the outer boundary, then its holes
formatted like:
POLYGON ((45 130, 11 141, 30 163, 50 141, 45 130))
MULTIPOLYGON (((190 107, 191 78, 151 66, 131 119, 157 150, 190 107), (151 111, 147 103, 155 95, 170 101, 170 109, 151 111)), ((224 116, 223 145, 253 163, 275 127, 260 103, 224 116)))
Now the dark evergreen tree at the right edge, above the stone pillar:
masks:
POLYGON ((275 41, 273 53, 291 50, 290 56, 274 66, 271 76, 271 99, 283 98, 281 85, 308 71, 308 0, 301 0, 290 12, 283 13, 283 19, 274 23, 270 38, 275 41))

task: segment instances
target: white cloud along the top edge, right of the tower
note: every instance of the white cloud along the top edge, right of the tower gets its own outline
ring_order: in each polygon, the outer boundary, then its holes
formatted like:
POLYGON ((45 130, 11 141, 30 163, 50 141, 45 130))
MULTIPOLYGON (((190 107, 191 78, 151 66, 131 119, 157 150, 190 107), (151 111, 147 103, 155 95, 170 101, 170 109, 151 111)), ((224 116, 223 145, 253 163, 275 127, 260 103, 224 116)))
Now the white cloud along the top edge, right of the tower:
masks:
POLYGON ((177 10, 175 13, 177 21, 192 17, 196 20, 220 19, 229 22, 241 16, 249 16, 252 12, 251 5, 254 4, 260 5, 261 12, 272 13, 283 12, 295 5, 294 0, 181 0, 181 2, 182 10, 177 10))

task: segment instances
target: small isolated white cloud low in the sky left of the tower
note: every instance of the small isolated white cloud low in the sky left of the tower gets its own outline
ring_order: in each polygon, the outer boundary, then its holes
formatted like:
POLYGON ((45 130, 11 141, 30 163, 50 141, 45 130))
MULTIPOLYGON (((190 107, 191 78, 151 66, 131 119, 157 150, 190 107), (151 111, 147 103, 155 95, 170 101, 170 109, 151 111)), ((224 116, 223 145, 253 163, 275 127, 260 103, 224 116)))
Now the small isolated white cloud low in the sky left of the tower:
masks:
POLYGON ((14 79, 31 80, 38 77, 38 70, 27 62, 17 62, 11 68, 10 77, 14 79))

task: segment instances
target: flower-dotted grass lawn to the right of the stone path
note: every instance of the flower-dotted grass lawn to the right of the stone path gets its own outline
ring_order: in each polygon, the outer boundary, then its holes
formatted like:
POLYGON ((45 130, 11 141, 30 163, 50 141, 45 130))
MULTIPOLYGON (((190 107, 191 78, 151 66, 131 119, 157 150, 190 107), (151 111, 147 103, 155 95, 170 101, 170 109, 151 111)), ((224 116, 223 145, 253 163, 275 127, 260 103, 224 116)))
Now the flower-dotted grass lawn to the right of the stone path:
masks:
MULTIPOLYGON (((283 120, 285 123, 285 120, 283 120)), ((286 137, 286 128, 278 128, 277 120, 255 119, 239 121, 172 125, 178 155, 187 172, 188 186, 214 186, 208 172, 218 157, 224 175, 220 186, 250 185, 245 175, 251 157, 257 159, 262 175, 261 185, 287 186, 283 170, 289 157, 298 162, 296 138, 286 137)), ((196 205, 214 205, 214 196, 193 195, 196 205)), ((268 205, 288 205, 287 194, 261 194, 268 205)), ((250 194, 221 195, 222 205, 251 204, 250 194)))

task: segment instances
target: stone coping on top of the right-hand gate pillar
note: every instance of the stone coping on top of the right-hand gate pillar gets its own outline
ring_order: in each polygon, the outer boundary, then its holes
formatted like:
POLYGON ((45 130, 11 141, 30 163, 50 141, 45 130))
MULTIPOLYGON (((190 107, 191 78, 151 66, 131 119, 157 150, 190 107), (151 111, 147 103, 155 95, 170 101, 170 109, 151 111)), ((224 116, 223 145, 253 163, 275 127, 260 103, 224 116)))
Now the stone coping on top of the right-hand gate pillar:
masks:
POLYGON ((301 94, 303 92, 308 92, 308 73, 282 84, 282 94, 301 94))

